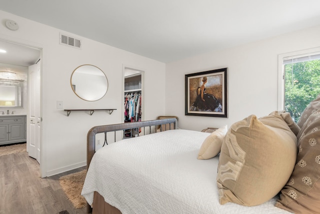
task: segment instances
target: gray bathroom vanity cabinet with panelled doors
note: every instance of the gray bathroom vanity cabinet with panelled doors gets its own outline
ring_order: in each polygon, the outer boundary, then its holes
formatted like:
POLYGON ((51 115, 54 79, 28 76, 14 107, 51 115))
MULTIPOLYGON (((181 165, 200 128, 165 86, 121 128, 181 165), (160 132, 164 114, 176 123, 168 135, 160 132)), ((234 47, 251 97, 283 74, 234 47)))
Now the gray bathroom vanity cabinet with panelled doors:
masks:
POLYGON ((26 141, 26 116, 0 116, 0 145, 26 141))

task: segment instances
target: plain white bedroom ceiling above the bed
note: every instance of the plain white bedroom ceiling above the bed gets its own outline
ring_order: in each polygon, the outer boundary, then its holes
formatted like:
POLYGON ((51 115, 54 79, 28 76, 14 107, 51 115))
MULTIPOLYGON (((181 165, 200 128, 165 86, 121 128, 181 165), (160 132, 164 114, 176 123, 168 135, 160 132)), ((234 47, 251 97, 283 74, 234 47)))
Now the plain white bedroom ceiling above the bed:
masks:
POLYGON ((0 10, 163 63, 320 25, 318 0, 0 0, 0 10))

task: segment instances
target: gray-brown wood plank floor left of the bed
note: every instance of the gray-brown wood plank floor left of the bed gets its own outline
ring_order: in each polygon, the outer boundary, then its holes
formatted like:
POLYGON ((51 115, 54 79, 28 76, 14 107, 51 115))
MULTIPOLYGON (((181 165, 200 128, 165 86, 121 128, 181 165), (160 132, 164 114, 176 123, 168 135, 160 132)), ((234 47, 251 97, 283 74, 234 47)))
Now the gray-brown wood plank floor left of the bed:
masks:
POLYGON ((59 184, 60 176, 83 169, 40 178, 39 164, 26 152, 0 156, 0 214, 86 213, 73 208, 59 184))

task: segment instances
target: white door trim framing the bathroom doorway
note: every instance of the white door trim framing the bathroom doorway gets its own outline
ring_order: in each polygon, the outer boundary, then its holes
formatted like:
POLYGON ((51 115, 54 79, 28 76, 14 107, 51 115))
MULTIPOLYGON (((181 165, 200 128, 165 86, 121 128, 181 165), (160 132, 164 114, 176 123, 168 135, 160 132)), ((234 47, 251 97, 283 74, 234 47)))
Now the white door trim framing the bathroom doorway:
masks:
MULTIPOLYGON (((42 130, 43 130, 43 123, 42 123, 42 73, 43 73, 43 52, 44 52, 44 47, 43 45, 40 45, 38 43, 34 43, 32 41, 26 41, 26 40, 21 40, 21 39, 17 39, 15 38, 15 40, 12 40, 11 37, 8 37, 6 35, 2 35, 0 34, 0 41, 3 42, 9 42, 9 43, 13 43, 16 45, 21 45, 21 46, 26 46, 30 49, 37 49, 40 51, 40 119, 41 119, 41 128, 40 128, 40 163, 39 163, 39 173, 40 173, 40 177, 46 177, 46 162, 45 162, 45 154, 43 154, 43 151, 45 151, 45 143, 42 142, 42 130)), ((28 96, 29 99, 29 96, 28 96)), ((28 111, 27 111, 28 112, 28 111)), ((26 117, 28 117, 28 113, 26 115, 26 117)), ((28 133, 27 133, 28 134, 28 133)), ((27 137, 28 139, 28 137, 27 137)))

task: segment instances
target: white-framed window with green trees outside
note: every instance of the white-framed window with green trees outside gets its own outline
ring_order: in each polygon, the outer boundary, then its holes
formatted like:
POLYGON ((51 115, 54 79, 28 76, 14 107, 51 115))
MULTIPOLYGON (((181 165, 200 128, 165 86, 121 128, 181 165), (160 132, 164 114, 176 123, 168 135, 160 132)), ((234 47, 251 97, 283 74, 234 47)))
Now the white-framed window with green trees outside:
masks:
POLYGON ((278 58, 278 109, 297 122, 305 107, 320 94, 320 48, 281 54, 278 58))

